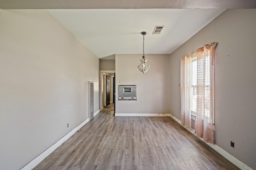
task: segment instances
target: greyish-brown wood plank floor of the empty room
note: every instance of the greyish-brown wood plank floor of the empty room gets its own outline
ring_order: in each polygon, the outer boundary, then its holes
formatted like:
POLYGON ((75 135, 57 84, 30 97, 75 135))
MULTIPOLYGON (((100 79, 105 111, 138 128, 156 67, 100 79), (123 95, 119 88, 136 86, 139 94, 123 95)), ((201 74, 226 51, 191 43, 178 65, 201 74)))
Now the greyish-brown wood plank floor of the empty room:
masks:
POLYGON ((101 111, 34 170, 239 170, 170 117, 101 111))

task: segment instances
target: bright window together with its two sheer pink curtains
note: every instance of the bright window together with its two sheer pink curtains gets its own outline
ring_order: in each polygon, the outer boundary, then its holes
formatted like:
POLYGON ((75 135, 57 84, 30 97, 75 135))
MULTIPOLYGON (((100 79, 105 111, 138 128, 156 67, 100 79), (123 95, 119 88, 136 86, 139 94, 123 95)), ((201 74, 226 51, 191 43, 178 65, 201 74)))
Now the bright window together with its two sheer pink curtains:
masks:
POLYGON ((181 125, 191 130, 195 119, 196 136, 214 143, 214 54, 217 43, 197 49, 180 61, 181 125))

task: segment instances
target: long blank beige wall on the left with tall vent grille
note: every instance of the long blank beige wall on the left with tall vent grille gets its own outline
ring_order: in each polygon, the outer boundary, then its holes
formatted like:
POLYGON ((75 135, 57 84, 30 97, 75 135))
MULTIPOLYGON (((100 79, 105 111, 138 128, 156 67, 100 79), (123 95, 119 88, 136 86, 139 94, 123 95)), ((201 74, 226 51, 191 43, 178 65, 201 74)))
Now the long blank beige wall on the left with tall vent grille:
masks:
POLYGON ((46 10, 0 28, 0 169, 18 170, 88 118, 88 81, 99 110, 99 59, 46 10))

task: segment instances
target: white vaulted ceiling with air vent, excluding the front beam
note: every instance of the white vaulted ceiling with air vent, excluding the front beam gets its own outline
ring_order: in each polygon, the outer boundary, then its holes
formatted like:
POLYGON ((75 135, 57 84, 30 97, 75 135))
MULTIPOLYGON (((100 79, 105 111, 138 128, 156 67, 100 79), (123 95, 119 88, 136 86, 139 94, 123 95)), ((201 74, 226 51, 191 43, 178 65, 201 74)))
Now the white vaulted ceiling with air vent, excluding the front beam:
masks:
MULTIPOLYGON (((97 57, 114 54, 170 54, 224 10, 98 9, 49 10, 97 57), (155 26, 164 26, 153 35, 155 26)), ((109 58, 109 57, 108 57, 109 58)))

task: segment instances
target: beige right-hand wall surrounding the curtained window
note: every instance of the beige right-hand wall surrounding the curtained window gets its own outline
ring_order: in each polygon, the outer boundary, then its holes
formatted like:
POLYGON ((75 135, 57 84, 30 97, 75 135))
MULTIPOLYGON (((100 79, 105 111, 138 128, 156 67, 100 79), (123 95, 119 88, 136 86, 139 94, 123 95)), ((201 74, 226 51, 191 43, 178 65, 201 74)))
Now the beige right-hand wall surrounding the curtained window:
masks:
POLYGON ((180 58, 217 42, 215 142, 256 169, 256 10, 226 10, 170 55, 170 111, 180 119, 180 58), (235 148, 230 147, 234 141, 235 148))

